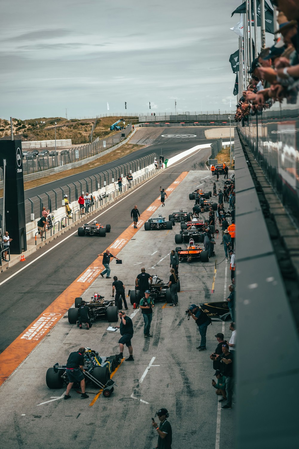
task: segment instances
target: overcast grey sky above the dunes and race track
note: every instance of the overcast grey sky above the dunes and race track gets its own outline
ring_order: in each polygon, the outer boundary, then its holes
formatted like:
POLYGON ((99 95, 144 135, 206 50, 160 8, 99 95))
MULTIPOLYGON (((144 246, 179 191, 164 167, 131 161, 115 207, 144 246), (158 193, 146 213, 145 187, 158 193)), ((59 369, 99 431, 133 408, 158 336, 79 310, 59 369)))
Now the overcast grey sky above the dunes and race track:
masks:
POLYGON ((11 0, 1 5, 0 116, 229 110, 242 0, 11 0))

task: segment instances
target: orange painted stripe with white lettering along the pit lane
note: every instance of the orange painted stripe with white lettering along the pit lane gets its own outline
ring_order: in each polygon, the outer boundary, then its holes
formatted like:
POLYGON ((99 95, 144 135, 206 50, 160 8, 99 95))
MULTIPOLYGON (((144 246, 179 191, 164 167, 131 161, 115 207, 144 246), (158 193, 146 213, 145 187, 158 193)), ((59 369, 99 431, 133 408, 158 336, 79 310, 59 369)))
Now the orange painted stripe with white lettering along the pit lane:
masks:
MULTIPOLYGON (((176 180, 166 189, 171 195, 178 185, 181 184, 188 172, 182 172, 176 180)), ((160 207, 160 197, 157 198, 141 214, 139 228, 160 207)), ((108 247, 113 255, 117 255, 123 247, 135 235, 138 229, 130 225, 121 235, 108 247)), ((66 289, 50 304, 44 311, 0 354, 0 387, 9 378, 14 370, 29 356, 30 352, 43 340, 43 338, 61 320, 64 314, 74 304, 74 299, 80 297, 91 283, 100 275, 104 266, 100 259, 95 261, 81 273, 66 289)))

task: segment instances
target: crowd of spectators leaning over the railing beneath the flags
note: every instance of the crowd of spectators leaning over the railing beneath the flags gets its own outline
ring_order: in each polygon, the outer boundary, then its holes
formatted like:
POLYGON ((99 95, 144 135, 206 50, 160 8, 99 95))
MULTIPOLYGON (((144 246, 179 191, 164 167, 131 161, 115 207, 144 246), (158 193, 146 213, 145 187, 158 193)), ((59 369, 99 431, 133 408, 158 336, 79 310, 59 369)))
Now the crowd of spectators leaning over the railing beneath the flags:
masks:
POLYGON ((275 101, 295 104, 299 90, 299 0, 274 0, 279 30, 272 47, 251 63, 251 79, 237 105, 235 121, 268 109, 275 101), (277 38, 278 35, 278 38, 277 38))

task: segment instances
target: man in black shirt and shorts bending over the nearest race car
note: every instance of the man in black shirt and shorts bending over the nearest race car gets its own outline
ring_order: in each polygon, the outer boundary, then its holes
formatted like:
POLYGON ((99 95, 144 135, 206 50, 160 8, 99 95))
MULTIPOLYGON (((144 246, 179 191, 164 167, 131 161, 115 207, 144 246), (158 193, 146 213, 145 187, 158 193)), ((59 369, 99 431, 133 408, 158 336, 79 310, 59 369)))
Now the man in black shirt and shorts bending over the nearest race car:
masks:
POLYGON ((68 386, 66 387, 65 399, 69 399, 69 392, 74 385, 74 382, 80 382, 81 387, 81 397, 82 399, 87 399, 89 396, 85 393, 85 378, 83 372, 84 356, 83 353, 85 348, 79 348, 77 352, 71 352, 69 354, 68 361, 66 362, 66 375, 69 379, 68 386))

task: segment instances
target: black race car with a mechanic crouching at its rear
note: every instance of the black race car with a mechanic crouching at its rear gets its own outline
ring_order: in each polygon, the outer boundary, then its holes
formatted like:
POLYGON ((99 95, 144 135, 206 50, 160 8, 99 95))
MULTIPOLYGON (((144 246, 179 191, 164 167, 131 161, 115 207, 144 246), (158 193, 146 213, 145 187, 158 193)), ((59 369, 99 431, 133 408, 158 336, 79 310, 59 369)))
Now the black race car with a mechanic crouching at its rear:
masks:
MULTIPOLYGON (((75 298, 75 307, 69 308, 68 318, 70 324, 78 323, 78 308, 81 306, 82 298, 75 298)), ((97 292, 91 297, 90 303, 85 303, 89 308, 89 314, 91 322, 95 320, 107 320, 109 323, 118 321, 118 307, 115 305, 113 299, 104 301, 104 296, 99 295, 97 292)))

